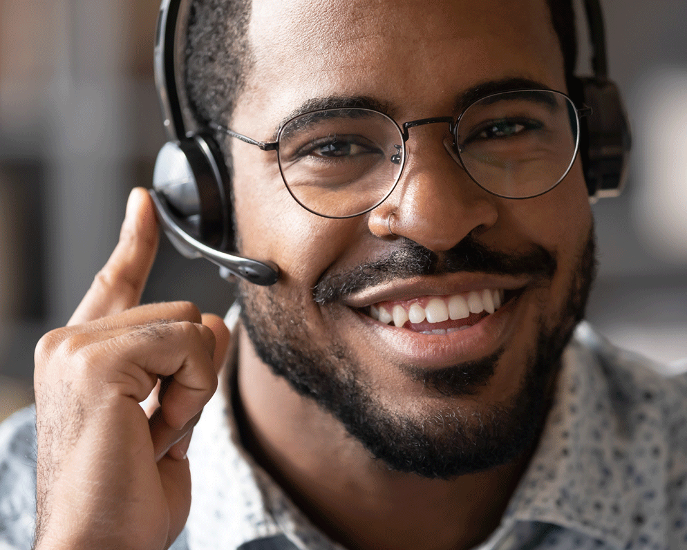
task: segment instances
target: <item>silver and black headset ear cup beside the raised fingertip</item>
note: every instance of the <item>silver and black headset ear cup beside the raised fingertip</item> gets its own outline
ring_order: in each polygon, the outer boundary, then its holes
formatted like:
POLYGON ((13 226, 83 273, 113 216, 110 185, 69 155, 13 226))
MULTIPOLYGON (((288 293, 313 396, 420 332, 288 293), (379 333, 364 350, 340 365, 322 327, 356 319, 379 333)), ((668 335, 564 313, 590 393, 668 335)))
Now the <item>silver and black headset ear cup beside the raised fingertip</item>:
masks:
POLYGON ((231 242, 228 178, 218 148, 204 135, 164 144, 153 172, 153 189, 187 233, 211 247, 231 242))

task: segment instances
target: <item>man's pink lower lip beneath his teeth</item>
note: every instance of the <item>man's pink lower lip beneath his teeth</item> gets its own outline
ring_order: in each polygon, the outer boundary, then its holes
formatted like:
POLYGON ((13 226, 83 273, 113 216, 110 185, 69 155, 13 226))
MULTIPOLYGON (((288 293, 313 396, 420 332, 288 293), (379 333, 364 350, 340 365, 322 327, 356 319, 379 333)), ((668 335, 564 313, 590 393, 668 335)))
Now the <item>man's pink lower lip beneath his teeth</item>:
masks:
MULTIPOLYGON (((463 287, 460 288, 462 292, 463 287)), ((406 328, 384 325, 359 309, 354 309, 353 312, 364 323, 372 336, 372 341, 375 341, 379 348, 387 350, 386 357, 393 357, 399 363, 431 370, 482 359, 505 345, 518 325, 518 304, 523 301, 525 292, 526 289, 513 296, 496 312, 485 316, 471 327, 449 334, 422 334, 406 328)), ((377 294, 373 299, 377 300, 377 294)))

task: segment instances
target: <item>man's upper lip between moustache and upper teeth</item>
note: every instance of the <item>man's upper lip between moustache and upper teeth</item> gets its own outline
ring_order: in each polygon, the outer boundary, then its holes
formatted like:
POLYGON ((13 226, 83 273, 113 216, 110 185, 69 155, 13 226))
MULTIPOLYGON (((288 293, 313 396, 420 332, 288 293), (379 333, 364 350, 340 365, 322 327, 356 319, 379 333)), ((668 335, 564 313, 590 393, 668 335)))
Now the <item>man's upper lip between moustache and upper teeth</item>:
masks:
POLYGON ((344 300, 344 305, 361 309, 380 302, 408 301, 422 296, 450 296, 485 288, 518 290, 529 283, 531 283, 529 276, 506 277, 484 274, 458 274, 439 278, 418 276, 403 281, 388 281, 388 283, 354 292, 344 300))

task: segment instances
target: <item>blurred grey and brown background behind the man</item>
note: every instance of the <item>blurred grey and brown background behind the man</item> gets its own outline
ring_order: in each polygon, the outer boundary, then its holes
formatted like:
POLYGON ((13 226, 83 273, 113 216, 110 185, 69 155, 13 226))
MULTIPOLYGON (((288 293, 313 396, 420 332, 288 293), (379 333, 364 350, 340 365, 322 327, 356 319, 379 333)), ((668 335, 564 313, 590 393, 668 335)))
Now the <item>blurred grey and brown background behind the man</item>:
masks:
MULTIPOLYGON (((634 153, 623 196, 594 205, 601 272, 588 318, 670 363, 687 357, 687 2, 602 4, 634 153)), ((157 10, 157 0, 0 0, 0 419, 31 401, 36 342, 66 323, 117 242, 129 190, 151 182, 164 142, 157 10)), ((223 314, 232 294, 215 267, 161 240, 144 301, 223 314)))

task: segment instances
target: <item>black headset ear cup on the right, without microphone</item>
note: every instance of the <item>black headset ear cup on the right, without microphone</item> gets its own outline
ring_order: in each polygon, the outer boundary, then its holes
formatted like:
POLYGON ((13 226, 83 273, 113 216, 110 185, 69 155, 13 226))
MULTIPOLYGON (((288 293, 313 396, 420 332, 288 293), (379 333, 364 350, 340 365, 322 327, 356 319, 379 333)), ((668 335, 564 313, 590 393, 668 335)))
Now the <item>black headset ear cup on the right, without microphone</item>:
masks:
POLYGON ((581 151, 594 198, 618 196, 625 184, 632 138, 617 86, 608 79, 579 78, 579 94, 592 113, 583 118, 581 151))

